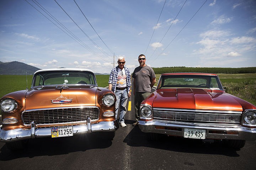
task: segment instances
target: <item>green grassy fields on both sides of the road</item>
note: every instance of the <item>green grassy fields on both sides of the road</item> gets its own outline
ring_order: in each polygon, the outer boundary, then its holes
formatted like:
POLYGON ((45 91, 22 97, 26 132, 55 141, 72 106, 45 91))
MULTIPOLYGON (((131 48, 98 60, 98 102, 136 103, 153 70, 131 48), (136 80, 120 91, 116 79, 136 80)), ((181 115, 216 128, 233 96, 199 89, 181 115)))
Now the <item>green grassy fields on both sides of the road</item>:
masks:
MULTIPOLYGON (((226 92, 256 105, 256 73, 218 75, 222 85, 227 88, 226 92)), ((28 88, 30 88, 32 75, 27 77, 28 88)), ((160 74, 156 74, 156 81, 158 81, 159 77, 160 74)), ((108 78, 109 75, 96 75, 98 86, 108 86, 108 78)), ((27 87, 26 75, 0 75, 0 82, 1 97, 13 91, 24 90, 27 87)))

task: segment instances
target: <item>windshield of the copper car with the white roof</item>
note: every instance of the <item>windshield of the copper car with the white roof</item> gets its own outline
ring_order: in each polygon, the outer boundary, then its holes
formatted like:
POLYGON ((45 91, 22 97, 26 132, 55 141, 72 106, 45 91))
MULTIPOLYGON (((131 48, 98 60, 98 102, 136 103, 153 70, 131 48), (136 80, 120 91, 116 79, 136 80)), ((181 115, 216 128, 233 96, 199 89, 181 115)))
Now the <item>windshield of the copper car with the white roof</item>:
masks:
POLYGON ((42 85, 89 84, 97 85, 94 73, 78 70, 57 70, 38 72, 34 75, 33 86, 42 85))

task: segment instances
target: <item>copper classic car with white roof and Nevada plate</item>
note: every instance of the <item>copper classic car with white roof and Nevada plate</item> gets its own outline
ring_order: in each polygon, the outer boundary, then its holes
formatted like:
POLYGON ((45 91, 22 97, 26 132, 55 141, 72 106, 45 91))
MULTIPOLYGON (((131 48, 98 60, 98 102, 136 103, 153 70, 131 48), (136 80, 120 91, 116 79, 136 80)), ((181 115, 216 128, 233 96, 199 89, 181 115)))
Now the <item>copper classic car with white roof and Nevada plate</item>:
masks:
POLYGON ((18 149, 31 138, 91 132, 111 140, 119 128, 115 101, 112 91, 97 86, 89 69, 38 70, 30 89, 0 99, 0 141, 18 149))

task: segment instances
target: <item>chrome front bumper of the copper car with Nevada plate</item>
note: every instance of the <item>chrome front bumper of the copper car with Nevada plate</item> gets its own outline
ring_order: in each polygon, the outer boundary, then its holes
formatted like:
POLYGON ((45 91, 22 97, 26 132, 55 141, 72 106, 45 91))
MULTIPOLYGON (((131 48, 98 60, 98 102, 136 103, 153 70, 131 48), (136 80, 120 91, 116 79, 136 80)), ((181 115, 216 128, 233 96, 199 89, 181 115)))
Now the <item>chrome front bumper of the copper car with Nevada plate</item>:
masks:
MULTIPOLYGON (((73 135, 91 132, 111 132, 116 131, 118 128, 119 124, 117 120, 91 123, 91 119, 88 118, 86 124, 73 125, 73 135)), ((13 142, 23 139, 43 138, 51 136, 51 128, 37 128, 33 121, 31 122, 31 129, 14 129, 5 131, 0 128, 0 142, 13 142)))

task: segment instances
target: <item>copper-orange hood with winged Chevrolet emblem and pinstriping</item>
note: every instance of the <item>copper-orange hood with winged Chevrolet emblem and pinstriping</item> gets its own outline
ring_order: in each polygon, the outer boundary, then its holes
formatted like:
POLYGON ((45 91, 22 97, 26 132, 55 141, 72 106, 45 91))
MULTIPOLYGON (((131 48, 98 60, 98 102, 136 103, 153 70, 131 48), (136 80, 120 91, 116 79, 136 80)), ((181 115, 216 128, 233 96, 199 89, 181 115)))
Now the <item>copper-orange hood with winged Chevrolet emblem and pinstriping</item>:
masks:
POLYGON ((26 110, 54 107, 96 106, 96 86, 38 87, 26 94, 26 110))

